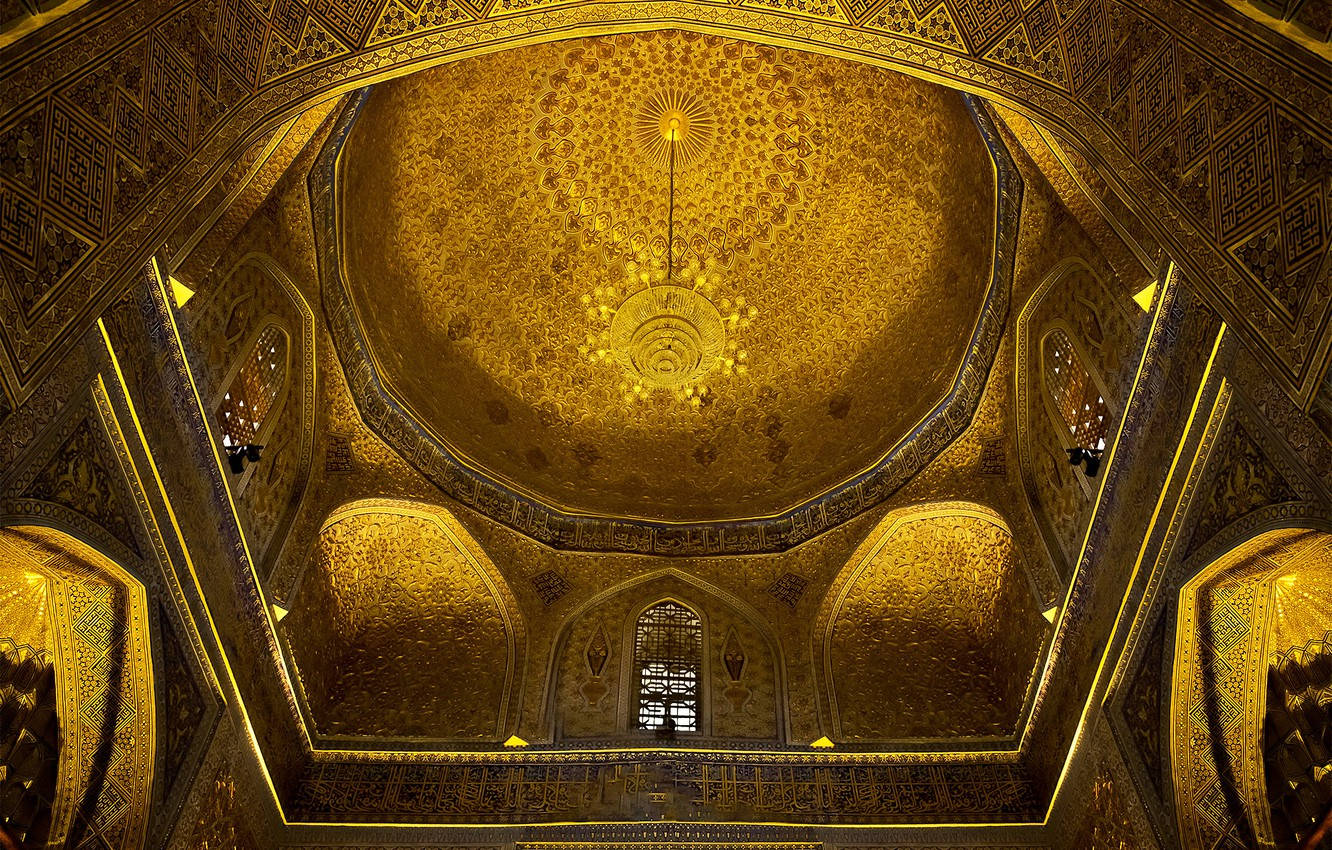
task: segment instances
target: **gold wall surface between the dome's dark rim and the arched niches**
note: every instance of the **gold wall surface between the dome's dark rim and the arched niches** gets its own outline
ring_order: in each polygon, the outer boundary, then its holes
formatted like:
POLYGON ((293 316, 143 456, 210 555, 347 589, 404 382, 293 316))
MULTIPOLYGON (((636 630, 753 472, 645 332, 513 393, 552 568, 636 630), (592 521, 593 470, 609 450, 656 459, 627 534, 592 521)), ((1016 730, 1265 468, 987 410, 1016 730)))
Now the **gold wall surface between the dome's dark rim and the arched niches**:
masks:
MULTIPOLYGON (((1076 222, 1062 216, 1058 197, 1054 196, 1048 185, 1040 183, 1039 172, 1026 163, 1019 165, 1024 169, 1023 177, 1028 189, 1023 196, 1024 236, 1018 249, 1018 276, 1014 282, 1015 302, 1020 304, 1038 289, 1051 266, 1056 266, 1067 256, 1080 256, 1086 257, 1087 264, 1094 265, 1100 274, 1110 278, 1104 294, 1107 304, 1112 304, 1118 294, 1136 310, 1136 305, 1128 301, 1130 293, 1118 285, 1104 258, 1098 253, 1098 242, 1092 241, 1076 222)), ((256 216, 236 244, 224 254, 228 262, 232 261, 230 257, 241 257, 252 249, 272 250, 282 266, 290 270, 302 292, 313 292, 317 286, 314 260, 306 253, 308 237, 304 225, 297 229, 301 222, 293 221, 298 216, 298 211, 305 208, 304 195, 304 187, 293 184, 284 187, 284 191, 270 201, 272 207, 284 211, 282 220, 292 228, 293 237, 289 242, 282 244, 274 240, 269 216, 256 216)), ((317 300, 317 294, 308 297, 317 300)), ((192 301, 185 312, 194 309, 198 308, 192 301)), ((1139 328, 1140 325, 1134 326, 1139 328)), ((659 558, 555 552, 473 512, 452 506, 436 486, 422 478, 420 470, 414 469, 409 460, 396 454, 366 428, 348 394, 346 380, 330 342, 324 336, 325 330, 321 322, 317 348, 321 356, 318 405, 322 413, 317 434, 314 482, 302 502, 300 516, 293 522, 292 538, 274 566, 270 588, 276 600, 282 605, 288 605, 294 598, 289 589, 296 581, 296 574, 302 569, 301 553, 305 552, 312 536, 317 536, 325 517, 346 502, 365 497, 393 497, 450 505, 457 512, 460 522, 468 528, 469 533, 494 561, 497 569, 505 574, 522 609, 529 629, 531 661, 522 673, 525 681, 523 719, 519 734, 535 742, 546 741, 553 734, 543 694, 553 686, 551 677, 557 674, 543 669, 542 665, 551 654, 550 647, 559 639, 565 618, 571 616, 571 612, 578 610, 581 604, 609 588, 617 588, 666 566, 673 566, 697 576, 714 588, 743 598, 758 609, 761 620, 777 633, 781 658, 787 666, 791 697, 786 713, 790 715, 787 719, 791 723, 791 739, 813 741, 826 731, 831 731, 821 726, 815 710, 815 703, 821 697, 811 678, 813 618, 829 584, 887 509, 915 502, 966 498, 1000 510, 1014 540, 1020 541, 1019 546, 1026 553, 1035 553, 1024 556, 1024 568, 1030 573, 1030 581, 1040 589, 1042 602, 1052 602, 1058 593, 1058 577, 1040 553, 1040 537, 1032 528, 1031 517, 1022 502, 1018 452, 1011 436, 1015 428, 1012 413, 1014 372, 1018 368, 1011 356, 1011 326, 1007 333, 1010 336, 1000 345, 1000 358, 988 377, 971 426, 934 464, 911 480, 883 510, 870 512, 834 533, 823 534, 807 545, 782 554, 746 558, 659 558), (793 581, 795 585, 790 585, 793 581), (798 586, 799 592, 795 596, 783 596, 782 582, 787 582, 786 586, 798 586)), ((1124 341, 1124 337, 1128 336, 1131 334, 1115 334, 1103 341, 1106 349, 1120 346, 1120 350, 1112 354, 1116 362, 1131 360, 1131 352, 1124 350, 1131 345, 1131 342, 1124 341)), ((1043 410, 1040 413, 1044 414, 1043 410)), ((1079 494, 1079 498, 1087 500, 1088 497, 1079 494)), ((927 600, 927 608, 922 610, 920 616, 932 616, 934 608, 931 606, 940 600, 927 600)), ((971 600, 962 601, 962 604, 971 602, 971 600)), ((298 606, 298 602, 293 605, 298 606)), ((574 642, 577 643, 577 641, 574 642)), ((922 651, 934 657, 948 650, 928 645, 922 646, 922 651)), ((908 671, 907 669, 894 671, 892 682, 902 679, 908 671)), ((611 673, 607 673, 609 675, 611 673)), ((1030 667, 1018 678, 1026 675, 1030 675, 1030 667)), ((947 674, 940 673, 939 679, 944 678, 947 674)), ((609 683, 609 678, 606 683, 609 683)), ((1024 683, 1023 678, 1022 686, 1024 683)), ((895 683, 890 683, 890 687, 895 686, 895 683)), ((958 683, 947 686, 950 689, 963 687, 958 683)), ((559 685, 559 687, 565 687, 565 685, 559 685)), ((405 703, 410 702, 406 694, 394 698, 405 703)), ((567 698, 582 699, 574 694, 574 689, 569 689, 567 698)), ((610 711, 609 706, 613 705, 614 699, 614 695, 607 695, 598 702, 598 710, 610 711)), ((1022 697, 1019 697, 1020 701, 1022 697)), ((936 703, 934 710, 947 717, 938 733, 939 738, 948 737, 943 729, 952 730, 974 722, 974 714, 968 714, 963 703, 936 703)), ((394 707, 394 711, 401 713, 406 709, 394 707)), ((610 734, 614 729, 617 729, 617 723, 607 719, 601 725, 590 723, 579 731, 579 735, 603 735, 610 734)), ((745 734, 751 733, 746 731, 745 734)), ((757 735, 757 731, 753 734, 757 735)), ((582 739, 591 741, 594 738, 585 737, 582 739)))

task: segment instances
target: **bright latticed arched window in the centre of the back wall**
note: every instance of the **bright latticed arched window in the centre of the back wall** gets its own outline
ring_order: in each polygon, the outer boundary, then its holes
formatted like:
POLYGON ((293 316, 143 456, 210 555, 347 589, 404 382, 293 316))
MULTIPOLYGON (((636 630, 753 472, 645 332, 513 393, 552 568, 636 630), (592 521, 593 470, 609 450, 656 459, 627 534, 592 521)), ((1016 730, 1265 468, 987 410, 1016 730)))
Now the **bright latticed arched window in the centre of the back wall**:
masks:
POLYGON ((677 602, 653 605, 634 628, 634 679, 639 729, 698 731, 703 624, 677 602))

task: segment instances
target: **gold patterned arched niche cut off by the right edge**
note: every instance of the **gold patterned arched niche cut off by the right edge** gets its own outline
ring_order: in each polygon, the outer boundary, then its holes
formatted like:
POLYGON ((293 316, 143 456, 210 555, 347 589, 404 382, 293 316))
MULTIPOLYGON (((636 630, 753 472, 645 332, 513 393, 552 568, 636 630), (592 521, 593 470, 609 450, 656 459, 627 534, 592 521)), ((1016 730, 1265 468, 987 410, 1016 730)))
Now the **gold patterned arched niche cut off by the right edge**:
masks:
MULTIPOLYGON (((1292 815, 1311 806, 1325 815, 1332 807, 1332 699, 1291 722, 1291 709, 1309 687, 1332 685, 1332 671, 1308 663, 1319 643, 1332 639, 1329 632, 1332 533, 1325 528, 1276 529, 1240 541, 1180 589, 1169 747, 1183 847, 1211 847, 1220 833, 1239 846, 1293 849, 1292 815), (1311 731, 1323 742, 1308 741, 1311 731), (1292 787, 1300 774, 1303 791, 1292 787), (1320 782, 1321 790, 1313 787, 1320 782), (1307 799, 1293 805, 1291 790, 1307 799)), ((1327 693, 1332 697, 1332 689, 1327 693)))

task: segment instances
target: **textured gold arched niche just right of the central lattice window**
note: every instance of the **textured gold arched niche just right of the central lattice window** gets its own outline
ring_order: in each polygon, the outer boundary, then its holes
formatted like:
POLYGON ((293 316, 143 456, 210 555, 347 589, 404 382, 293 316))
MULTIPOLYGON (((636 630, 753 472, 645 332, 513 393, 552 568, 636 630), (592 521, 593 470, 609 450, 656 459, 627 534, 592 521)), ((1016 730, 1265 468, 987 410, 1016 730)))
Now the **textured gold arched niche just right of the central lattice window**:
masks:
POLYGON ((1048 630, 1003 518, 966 502, 890 513, 819 608, 835 739, 1010 738, 1048 630))

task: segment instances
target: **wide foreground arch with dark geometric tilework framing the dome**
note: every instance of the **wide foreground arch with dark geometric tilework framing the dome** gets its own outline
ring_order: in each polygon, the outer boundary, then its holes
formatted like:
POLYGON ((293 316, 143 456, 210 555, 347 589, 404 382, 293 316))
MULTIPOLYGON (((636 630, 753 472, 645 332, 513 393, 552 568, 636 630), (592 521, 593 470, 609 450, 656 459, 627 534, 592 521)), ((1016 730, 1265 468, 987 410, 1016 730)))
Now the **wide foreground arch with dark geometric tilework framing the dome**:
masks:
MULTIPOLYGON (((1325 4, 1285 5, 1325 37, 1325 4)), ((153 228, 273 105, 418 56, 675 17, 888 57, 1060 119, 1304 400, 1332 313, 1332 107, 1316 80, 1183 4, 1151 15, 1127 0, 192 0, 147 21, 112 15, 40 61, 8 65, 0 310, 23 306, 31 320, 4 328, 12 389, 24 394, 88 326, 153 228), (1201 44, 1224 49, 1224 68, 1201 44), (44 234, 68 248, 53 262, 44 234)))

